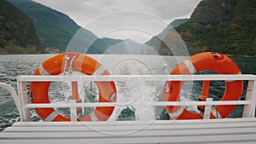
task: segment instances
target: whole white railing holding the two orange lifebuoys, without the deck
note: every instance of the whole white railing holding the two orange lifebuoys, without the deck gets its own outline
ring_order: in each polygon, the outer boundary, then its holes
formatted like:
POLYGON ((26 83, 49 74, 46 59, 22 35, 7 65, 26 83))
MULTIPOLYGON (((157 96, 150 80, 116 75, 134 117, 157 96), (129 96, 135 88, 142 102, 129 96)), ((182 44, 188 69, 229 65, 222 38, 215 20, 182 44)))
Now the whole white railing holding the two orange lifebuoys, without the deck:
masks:
MULTIPOLYGON (((100 75, 100 76, 19 76, 17 78, 18 95, 14 94, 14 90, 10 90, 15 100, 16 106, 20 112, 21 121, 31 120, 31 108, 39 107, 69 107, 70 115, 73 121, 76 121, 76 107, 123 107, 123 106, 197 106, 205 105, 204 118, 210 117, 212 105, 244 105, 243 118, 254 118, 256 105, 256 76, 255 75, 100 75), (89 102, 76 103, 49 103, 49 104, 32 104, 29 102, 27 95, 27 82, 75 82, 75 81, 129 81, 131 78, 137 78, 141 81, 202 81, 202 80, 247 80, 247 93, 245 101, 153 101, 150 103, 134 102, 123 104, 118 102, 89 102), (12 92, 11 92, 12 91, 12 92)), ((3 87, 3 84, 0 84, 3 87)), ((7 88, 6 86, 3 88, 7 88)), ((10 88, 8 88, 10 89, 10 88)))

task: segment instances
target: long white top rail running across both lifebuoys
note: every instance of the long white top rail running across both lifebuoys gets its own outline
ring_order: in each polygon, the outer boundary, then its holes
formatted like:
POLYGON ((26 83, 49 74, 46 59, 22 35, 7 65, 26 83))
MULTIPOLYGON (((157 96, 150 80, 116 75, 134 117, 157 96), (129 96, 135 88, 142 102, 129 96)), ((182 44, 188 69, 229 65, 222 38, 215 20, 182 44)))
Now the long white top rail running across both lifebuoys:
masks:
POLYGON ((140 78, 142 81, 198 81, 198 80, 256 80, 255 75, 100 75, 100 76, 20 76, 22 82, 45 81, 128 81, 140 78))

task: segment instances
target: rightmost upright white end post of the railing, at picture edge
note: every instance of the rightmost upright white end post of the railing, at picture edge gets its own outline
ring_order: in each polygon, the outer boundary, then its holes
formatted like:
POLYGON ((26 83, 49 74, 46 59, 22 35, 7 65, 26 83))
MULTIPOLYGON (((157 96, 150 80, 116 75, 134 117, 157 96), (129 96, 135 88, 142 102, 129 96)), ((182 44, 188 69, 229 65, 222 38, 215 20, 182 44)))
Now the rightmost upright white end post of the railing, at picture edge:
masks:
POLYGON ((250 104, 245 105, 242 113, 242 118, 254 118, 256 105, 256 80, 249 80, 247 86, 246 100, 250 104))

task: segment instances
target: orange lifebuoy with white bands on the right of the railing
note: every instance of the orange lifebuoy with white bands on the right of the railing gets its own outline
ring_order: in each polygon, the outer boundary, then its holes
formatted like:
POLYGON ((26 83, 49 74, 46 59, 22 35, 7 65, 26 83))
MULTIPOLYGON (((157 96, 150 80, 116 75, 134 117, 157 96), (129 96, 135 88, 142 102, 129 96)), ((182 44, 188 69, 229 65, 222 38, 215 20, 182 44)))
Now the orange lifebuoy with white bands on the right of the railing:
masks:
MULTIPOLYGON (((206 52, 189 57, 176 66, 171 75, 189 75, 203 70, 218 72, 219 74, 241 74, 239 67, 229 57, 214 52, 206 52)), ((179 93, 183 87, 181 81, 167 81, 163 90, 164 101, 180 101, 179 93)), ((209 81, 204 81, 202 95, 199 96, 203 101, 208 96, 209 81)), ((243 82, 241 80, 226 81, 224 95, 221 101, 237 101, 242 94, 243 82)), ((199 106, 199 108, 203 108, 199 106)), ((212 108, 210 118, 226 118, 230 112, 236 108, 235 105, 216 106, 212 108)), ((166 111, 174 119, 200 119, 201 112, 189 112, 182 106, 166 106, 166 111)))

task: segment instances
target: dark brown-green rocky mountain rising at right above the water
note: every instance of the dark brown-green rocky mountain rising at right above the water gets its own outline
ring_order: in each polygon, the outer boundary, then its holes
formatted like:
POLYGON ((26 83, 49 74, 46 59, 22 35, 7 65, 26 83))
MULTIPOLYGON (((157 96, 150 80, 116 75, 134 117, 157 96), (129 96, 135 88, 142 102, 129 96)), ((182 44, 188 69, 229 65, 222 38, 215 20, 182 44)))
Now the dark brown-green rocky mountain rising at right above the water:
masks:
MULTIPOLYGON (((256 55, 254 0, 203 0, 177 32, 191 54, 256 55)), ((168 37, 168 36, 166 36, 168 37)))

